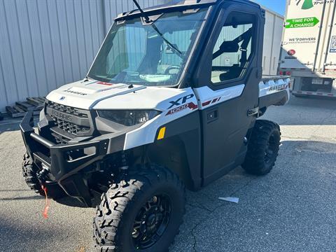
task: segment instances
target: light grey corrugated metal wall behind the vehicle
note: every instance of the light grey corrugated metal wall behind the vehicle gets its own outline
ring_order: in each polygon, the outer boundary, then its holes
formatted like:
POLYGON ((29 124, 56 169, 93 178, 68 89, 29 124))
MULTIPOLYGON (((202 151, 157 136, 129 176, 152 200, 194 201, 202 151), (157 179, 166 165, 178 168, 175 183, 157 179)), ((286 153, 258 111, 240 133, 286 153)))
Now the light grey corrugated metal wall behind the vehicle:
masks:
POLYGON ((83 78, 113 19, 134 8, 132 0, 0 0, 0 111, 83 78))

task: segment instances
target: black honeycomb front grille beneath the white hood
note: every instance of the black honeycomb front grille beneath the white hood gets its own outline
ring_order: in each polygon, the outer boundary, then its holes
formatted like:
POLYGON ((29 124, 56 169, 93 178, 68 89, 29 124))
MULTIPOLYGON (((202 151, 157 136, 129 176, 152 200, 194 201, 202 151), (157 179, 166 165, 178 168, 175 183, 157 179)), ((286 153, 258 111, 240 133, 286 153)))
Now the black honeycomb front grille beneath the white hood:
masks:
MULTIPOLYGON (((90 112, 82 109, 76 109, 70 106, 64 106, 55 102, 46 102, 47 114, 52 118, 55 127, 74 136, 90 135, 90 112), (57 111, 57 112, 55 112, 57 111), (69 118, 68 118, 69 116, 69 118), (68 119, 68 120, 66 120, 68 119), (71 121, 70 121, 71 120, 71 121)), ((53 132, 57 143, 64 141, 64 136, 59 136, 59 132, 53 132), (56 136, 55 136, 56 134, 56 136)), ((69 138, 69 135, 68 137, 69 138)))

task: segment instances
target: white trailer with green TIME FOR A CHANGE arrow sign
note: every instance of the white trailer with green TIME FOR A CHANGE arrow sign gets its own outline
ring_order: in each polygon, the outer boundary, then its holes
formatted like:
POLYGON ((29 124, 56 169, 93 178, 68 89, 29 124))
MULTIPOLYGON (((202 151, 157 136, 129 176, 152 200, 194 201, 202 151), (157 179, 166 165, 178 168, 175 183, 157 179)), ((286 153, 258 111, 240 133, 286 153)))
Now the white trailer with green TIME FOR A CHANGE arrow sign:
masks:
POLYGON ((295 96, 336 97, 336 0, 287 0, 280 74, 295 96))

